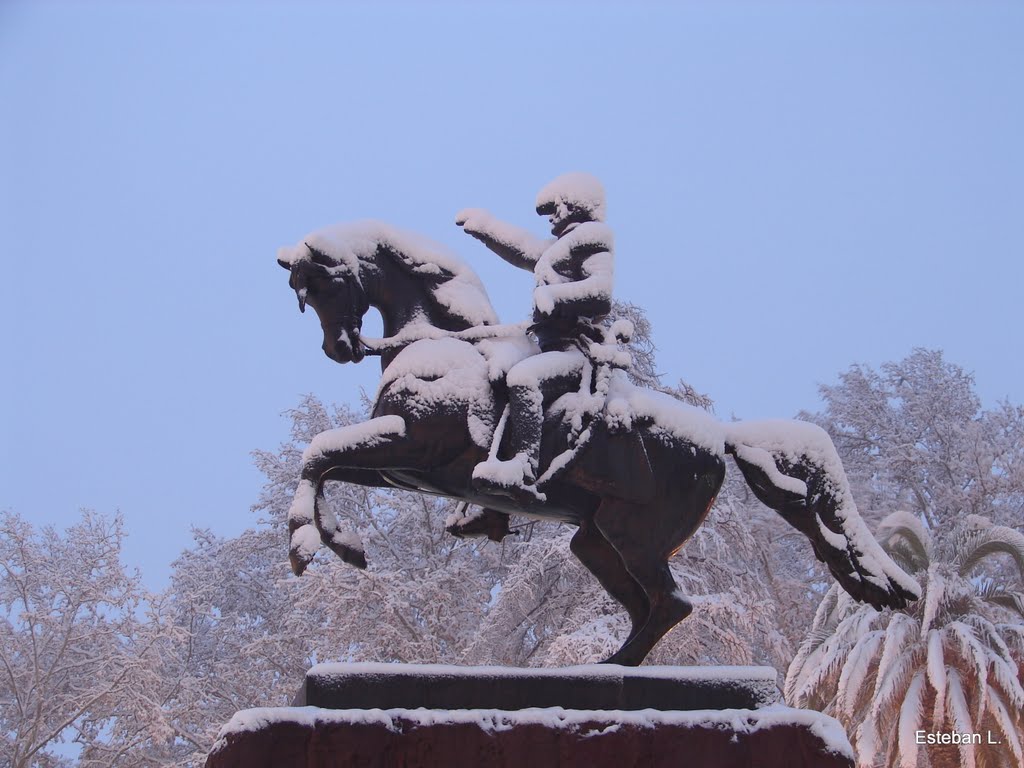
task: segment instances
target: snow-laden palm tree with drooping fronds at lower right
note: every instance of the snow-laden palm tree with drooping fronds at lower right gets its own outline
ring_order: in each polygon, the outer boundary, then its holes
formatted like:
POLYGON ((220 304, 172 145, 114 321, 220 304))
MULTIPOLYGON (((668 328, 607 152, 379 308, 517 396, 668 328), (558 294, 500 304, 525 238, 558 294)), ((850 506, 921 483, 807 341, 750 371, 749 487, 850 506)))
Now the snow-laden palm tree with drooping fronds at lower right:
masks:
POLYGON ((971 515, 933 538, 919 518, 895 512, 879 539, 915 574, 923 598, 878 612, 834 586, 790 666, 786 699, 838 718, 858 766, 1024 765, 1024 536, 971 515), (1013 565, 992 557, 999 553, 1013 565), (953 732, 983 743, 927 741, 953 732))

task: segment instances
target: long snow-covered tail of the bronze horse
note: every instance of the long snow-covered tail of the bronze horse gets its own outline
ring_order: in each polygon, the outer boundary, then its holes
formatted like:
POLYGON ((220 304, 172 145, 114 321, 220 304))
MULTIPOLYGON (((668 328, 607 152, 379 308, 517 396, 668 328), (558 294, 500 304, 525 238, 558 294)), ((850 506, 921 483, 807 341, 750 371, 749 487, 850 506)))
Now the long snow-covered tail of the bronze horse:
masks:
POLYGON ((852 597, 879 610, 921 597, 918 583, 861 519, 823 429, 798 421, 736 422, 727 429, 726 453, 754 495, 810 540, 815 556, 852 597))

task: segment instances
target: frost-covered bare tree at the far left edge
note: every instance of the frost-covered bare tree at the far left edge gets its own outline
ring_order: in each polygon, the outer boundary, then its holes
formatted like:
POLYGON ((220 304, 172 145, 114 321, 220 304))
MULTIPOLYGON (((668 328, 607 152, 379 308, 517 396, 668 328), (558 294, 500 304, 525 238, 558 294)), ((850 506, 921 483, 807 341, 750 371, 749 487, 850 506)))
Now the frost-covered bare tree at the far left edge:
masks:
POLYGON ((0 515, 0 763, 125 764, 174 739, 160 658, 180 639, 120 561, 120 517, 83 512, 67 531, 0 515))

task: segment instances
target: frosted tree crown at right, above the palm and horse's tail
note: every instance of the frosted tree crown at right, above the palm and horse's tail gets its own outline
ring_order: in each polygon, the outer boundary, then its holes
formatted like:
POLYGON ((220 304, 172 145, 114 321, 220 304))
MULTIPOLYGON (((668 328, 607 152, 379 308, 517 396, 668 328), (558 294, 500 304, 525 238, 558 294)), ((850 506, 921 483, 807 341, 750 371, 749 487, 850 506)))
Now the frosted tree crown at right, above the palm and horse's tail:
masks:
POLYGON ((865 517, 910 509, 932 527, 966 514, 1013 525, 1024 512, 1024 408, 984 410, 974 380, 938 350, 876 371, 853 366, 803 414, 829 433, 865 517))

